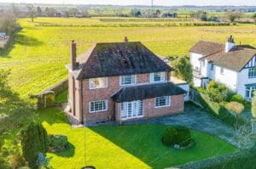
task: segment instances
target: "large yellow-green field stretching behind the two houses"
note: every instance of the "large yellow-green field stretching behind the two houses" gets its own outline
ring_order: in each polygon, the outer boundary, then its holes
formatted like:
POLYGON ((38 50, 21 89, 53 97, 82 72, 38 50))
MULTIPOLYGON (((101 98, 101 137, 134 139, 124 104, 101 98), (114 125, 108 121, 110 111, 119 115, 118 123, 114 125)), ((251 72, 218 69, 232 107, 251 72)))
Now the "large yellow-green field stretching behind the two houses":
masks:
POLYGON ((121 42, 124 37, 143 42, 160 55, 189 54, 189 48, 199 40, 225 42, 230 34, 236 43, 256 46, 256 25, 103 27, 94 18, 37 18, 35 23, 21 19, 19 23, 23 29, 16 35, 14 46, 0 54, 0 67, 11 70, 10 85, 22 96, 39 93, 67 77, 64 66, 72 39, 78 44, 78 54, 96 42, 121 42), (59 26, 40 25, 43 22, 59 26), (92 22, 95 27, 79 26, 92 22))

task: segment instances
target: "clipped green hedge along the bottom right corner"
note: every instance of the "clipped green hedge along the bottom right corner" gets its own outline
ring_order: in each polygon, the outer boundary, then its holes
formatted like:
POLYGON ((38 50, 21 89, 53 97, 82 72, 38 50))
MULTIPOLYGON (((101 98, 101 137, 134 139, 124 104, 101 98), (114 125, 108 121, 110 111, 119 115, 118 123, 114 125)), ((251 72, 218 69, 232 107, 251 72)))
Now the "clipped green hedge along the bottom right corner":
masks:
POLYGON ((256 146, 236 153, 193 161, 173 168, 180 169, 241 169, 256 166, 256 146))

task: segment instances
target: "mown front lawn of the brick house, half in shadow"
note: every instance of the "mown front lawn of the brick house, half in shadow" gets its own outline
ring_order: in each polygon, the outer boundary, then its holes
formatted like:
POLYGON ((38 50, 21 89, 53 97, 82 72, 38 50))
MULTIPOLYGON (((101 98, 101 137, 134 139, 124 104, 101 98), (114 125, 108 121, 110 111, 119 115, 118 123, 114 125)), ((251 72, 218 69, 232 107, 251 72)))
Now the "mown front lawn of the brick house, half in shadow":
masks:
POLYGON ((160 141, 164 125, 72 128, 58 108, 39 110, 39 115, 49 133, 67 135, 72 145, 67 151, 48 154, 54 168, 81 168, 84 149, 86 164, 98 169, 164 168, 236 151, 223 140, 196 131, 192 131, 194 149, 171 149, 160 141))

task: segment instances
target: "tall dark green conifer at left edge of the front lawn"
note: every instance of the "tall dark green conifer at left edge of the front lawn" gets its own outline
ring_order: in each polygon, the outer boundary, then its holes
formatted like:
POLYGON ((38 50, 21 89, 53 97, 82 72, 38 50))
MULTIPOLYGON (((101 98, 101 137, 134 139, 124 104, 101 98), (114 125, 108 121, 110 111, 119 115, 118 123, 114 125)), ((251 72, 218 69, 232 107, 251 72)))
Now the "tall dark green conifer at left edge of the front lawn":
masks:
POLYGON ((48 145, 48 134, 41 123, 32 122, 21 132, 21 149, 28 166, 32 169, 38 168, 38 154, 46 153, 48 145))

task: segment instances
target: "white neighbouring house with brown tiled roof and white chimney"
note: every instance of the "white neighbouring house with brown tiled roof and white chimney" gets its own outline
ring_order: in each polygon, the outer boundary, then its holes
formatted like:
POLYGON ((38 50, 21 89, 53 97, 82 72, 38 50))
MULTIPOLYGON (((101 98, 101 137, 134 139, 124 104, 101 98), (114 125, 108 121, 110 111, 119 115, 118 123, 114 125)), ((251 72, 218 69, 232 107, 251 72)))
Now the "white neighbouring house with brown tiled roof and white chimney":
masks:
POLYGON ((224 83, 244 99, 256 90, 256 48, 236 45, 230 36, 225 44, 200 41, 190 48, 195 87, 207 87, 211 80, 224 83))

